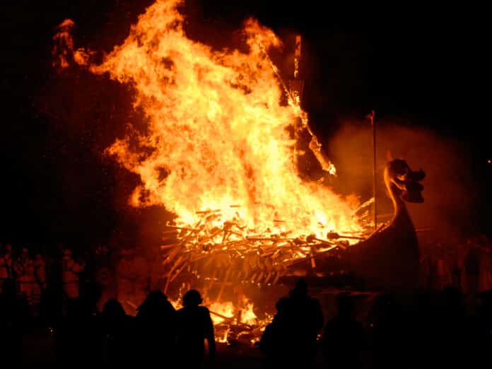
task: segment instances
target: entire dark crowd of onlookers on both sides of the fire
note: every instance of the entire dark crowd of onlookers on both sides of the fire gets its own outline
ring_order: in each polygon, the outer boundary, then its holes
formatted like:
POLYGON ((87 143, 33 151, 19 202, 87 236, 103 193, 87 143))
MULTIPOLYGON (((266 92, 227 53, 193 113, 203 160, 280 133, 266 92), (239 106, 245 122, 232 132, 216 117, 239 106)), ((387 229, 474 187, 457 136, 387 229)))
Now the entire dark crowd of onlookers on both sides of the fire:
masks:
MULTIPOLYGON (((60 247, 56 259, 31 254, 27 247, 1 247, 5 362, 22 361, 26 334, 44 329, 55 343, 53 359, 69 365, 164 358, 183 368, 220 365, 214 361, 211 315, 198 291, 185 293, 183 307, 176 310, 160 283, 151 283, 152 271, 144 277, 138 269, 149 264, 134 262, 134 252, 120 252, 117 262, 105 260, 107 250, 101 248, 95 252, 99 259, 74 254, 60 247), (118 270, 122 274, 115 276, 118 270)), ((492 288, 481 289, 481 278, 474 279, 474 257, 465 254, 461 264, 462 273, 471 277, 452 279, 450 272, 448 283, 422 288, 414 296, 345 291, 332 300, 323 294, 315 298, 306 280, 299 279, 277 301, 276 314, 262 332, 257 348, 265 367, 478 367, 492 344, 492 288), (472 283, 476 286, 469 287, 472 283), (336 306, 336 313, 327 314, 327 306, 336 306)), ((480 265, 479 276, 487 274, 480 265)))

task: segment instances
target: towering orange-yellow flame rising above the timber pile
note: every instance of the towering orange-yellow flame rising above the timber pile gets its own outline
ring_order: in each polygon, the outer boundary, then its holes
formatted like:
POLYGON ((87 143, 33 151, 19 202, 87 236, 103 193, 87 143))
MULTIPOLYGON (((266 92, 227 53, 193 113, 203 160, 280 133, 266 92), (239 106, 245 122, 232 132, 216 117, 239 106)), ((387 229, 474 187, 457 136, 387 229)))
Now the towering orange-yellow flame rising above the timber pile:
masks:
MULTIPOLYGON (((132 132, 107 150, 141 178, 131 204, 163 204, 178 224, 221 209, 224 219, 240 218, 260 233, 356 230, 346 201, 298 177, 286 128, 305 112, 281 103, 284 91, 266 54, 280 40, 250 19, 247 54, 213 50, 187 38, 180 2, 156 1, 123 45, 90 66, 133 86, 134 106, 146 113, 146 134, 132 132)), ((74 60, 87 64, 88 53, 78 49, 74 60)))

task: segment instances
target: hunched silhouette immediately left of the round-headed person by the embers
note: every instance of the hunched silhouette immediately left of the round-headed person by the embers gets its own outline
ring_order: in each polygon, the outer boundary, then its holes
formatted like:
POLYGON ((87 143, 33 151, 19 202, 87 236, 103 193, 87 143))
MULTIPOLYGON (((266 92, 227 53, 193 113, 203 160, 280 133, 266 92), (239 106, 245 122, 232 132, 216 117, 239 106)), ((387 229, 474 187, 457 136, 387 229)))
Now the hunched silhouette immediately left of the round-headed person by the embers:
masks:
POLYGON ((175 354, 176 311, 160 291, 149 293, 136 314, 137 349, 142 360, 172 360, 175 354))

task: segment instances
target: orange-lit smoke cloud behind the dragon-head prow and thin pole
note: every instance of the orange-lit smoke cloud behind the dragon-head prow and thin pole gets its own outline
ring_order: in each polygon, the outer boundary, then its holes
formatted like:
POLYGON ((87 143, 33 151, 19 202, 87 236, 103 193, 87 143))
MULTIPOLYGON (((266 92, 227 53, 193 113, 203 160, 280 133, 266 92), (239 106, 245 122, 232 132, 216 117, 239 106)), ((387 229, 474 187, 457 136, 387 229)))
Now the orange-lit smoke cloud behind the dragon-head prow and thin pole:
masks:
MULTIPOLYGON (((377 213, 389 221, 392 204, 382 172, 388 160, 402 158, 413 170, 426 172, 423 204, 408 204, 420 237, 430 235, 453 240, 477 231, 479 199, 472 172, 472 157, 466 146, 435 131, 413 128, 412 122, 378 121, 377 124, 377 213), (422 230, 430 228, 430 230, 422 230)), ((369 122, 345 122, 329 143, 339 169, 335 187, 361 194, 364 201, 373 193, 373 132, 369 122)))

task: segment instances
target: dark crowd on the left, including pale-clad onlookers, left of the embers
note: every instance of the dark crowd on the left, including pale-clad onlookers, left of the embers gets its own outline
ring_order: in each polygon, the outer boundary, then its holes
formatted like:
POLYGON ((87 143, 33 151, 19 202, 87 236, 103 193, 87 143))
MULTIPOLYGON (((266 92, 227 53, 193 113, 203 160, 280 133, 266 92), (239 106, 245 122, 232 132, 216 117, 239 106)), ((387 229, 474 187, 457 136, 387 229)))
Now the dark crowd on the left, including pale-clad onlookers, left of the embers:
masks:
MULTIPOLYGON (((46 268, 41 255, 31 259, 26 247, 18 254, 10 244, 1 247, 0 351, 7 362, 22 361, 23 336, 36 328, 47 329, 52 335, 54 359, 70 365, 158 363, 163 358, 170 363, 179 358, 186 368, 199 367, 205 358, 204 340, 209 358, 213 358, 213 324, 209 310, 200 305, 198 291, 185 293, 179 310, 163 292, 148 291, 136 305, 135 314, 129 315, 117 298, 103 296, 107 284, 100 270, 87 279, 84 271, 90 263, 75 259, 69 248, 60 251, 59 260, 46 268)), ((129 262, 124 259, 129 252, 122 254, 124 262, 129 262)), ((98 269, 106 268, 102 263, 98 269)), ((122 297, 135 300, 135 295, 122 297)))

